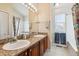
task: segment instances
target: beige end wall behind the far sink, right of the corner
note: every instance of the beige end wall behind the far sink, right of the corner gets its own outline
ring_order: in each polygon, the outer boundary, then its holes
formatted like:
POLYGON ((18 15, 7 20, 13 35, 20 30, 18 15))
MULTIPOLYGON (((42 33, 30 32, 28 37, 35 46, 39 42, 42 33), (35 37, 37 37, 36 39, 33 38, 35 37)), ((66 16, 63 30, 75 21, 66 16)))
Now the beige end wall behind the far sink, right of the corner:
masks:
POLYGON ((39 23, 39 32, 49 32, 50 28, 50 4, 41 3, 38 6, 38 21, 39 23))

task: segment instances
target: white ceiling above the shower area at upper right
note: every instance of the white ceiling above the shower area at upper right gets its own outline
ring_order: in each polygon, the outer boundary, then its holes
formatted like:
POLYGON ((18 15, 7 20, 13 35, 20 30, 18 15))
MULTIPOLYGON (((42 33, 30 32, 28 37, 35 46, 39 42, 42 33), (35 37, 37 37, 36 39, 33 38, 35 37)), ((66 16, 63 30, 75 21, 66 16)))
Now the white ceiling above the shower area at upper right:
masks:
POLYGON ((71 13, 71 8, 74 4, 73 3, 59 3, 55 6, 55 14, 59 13, 71 13))

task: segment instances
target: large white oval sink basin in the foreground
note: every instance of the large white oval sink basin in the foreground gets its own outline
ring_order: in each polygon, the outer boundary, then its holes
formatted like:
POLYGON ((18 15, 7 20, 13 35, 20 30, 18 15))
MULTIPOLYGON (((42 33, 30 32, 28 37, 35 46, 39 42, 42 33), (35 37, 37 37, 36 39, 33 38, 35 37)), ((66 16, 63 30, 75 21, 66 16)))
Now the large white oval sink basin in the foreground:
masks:
POLYGON ((4 50, 16 50, 27 47, 29 44, 28 40, 17 40, 16 42, 5 44, 2 48, 4 50))

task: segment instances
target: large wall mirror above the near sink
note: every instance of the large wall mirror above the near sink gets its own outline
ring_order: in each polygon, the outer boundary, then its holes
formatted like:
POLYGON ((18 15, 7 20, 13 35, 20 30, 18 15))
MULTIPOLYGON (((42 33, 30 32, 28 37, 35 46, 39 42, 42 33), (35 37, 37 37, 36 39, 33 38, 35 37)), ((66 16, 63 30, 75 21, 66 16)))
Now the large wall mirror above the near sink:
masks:
POLYGON ((28 9, 22 4, 12 4, 9 9, 0 8, 0 39, 29 32, 28 9))

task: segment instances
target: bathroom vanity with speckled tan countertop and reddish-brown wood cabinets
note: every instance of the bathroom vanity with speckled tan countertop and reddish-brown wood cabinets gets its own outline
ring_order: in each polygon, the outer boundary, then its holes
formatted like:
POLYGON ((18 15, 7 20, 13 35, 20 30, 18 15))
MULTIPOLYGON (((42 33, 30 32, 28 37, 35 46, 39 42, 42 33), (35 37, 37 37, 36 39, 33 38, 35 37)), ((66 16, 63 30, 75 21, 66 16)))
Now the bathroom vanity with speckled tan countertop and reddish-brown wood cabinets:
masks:
POLYGON ((49 48, 48 35, 32 36, 26 40, 28 40, 30 44, 17 50, 4 50, 2 49, 4 44, 0 45, 0 56, 41 56, 49 48))

